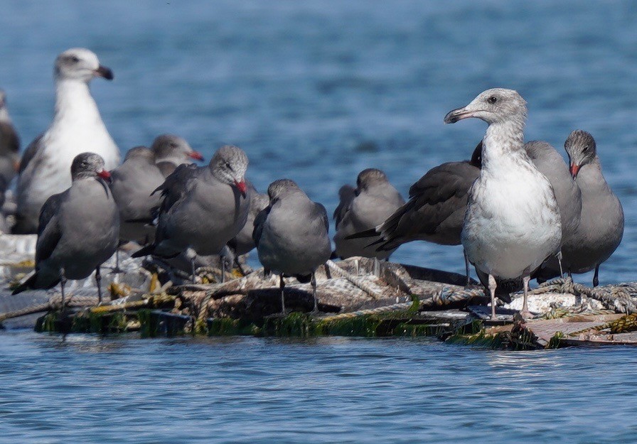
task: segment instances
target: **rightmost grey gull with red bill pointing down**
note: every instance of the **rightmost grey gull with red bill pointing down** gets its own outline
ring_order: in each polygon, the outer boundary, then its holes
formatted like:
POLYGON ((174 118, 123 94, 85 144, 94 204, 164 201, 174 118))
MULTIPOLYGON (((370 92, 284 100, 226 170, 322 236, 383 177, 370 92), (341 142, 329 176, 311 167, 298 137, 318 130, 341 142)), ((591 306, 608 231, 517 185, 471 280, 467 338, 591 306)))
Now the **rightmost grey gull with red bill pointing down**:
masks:
POLYGON ((573 131, 564 142, 570 171, 582 192, 582 217, 575 235, 564 242, 562 256, 570 273, 595 269, 593 286, 599 285, 599 265, 609 259, 623 237, 623 208, 601 173, 595 139, 586 131, 573 131))

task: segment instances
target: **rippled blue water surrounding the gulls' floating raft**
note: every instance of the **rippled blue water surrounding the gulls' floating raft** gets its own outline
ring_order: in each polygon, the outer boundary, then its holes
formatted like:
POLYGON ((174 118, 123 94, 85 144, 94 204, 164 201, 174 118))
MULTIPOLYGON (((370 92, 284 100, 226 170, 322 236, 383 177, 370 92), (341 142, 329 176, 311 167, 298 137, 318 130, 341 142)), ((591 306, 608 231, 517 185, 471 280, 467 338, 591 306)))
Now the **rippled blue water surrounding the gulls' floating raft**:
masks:
MULTIPOLYGON (((630 1, 5 0, 1 10, 0 87, 25 146, 53 112, 55 55, 86 46, 114 70, 92 91, 122 151, 163 132, 207 156, 237 144, 257 188, 292 178, 328 212, 363 168, 383 168, 406 195, 432 166, 468 158, 485 124, 443 125, 444 114, 488 87, 518 90, 528 140, 561 151, 573 129, 595 136, 626 212, 600 281, 635 278, 630 1)), ((416 242, 393 259, 464 271, 459 247, 416 242)), ((8 332, 0 440, 628 442, 634 356, 8 332)))

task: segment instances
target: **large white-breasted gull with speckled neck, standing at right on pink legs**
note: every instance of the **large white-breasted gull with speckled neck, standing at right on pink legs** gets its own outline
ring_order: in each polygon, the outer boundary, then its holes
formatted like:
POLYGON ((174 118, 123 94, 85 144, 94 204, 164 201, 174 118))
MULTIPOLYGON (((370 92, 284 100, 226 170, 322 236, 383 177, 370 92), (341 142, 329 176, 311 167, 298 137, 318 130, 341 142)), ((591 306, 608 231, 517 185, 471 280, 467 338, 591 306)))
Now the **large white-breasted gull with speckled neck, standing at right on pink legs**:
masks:
POLYGON ((444 117, 445 123, 476 117, 488 124, 482 168, 469 192, 461 240, 469 261, 488 274, 493 319, 496 277, 522 276, 522 314, 528 316, 530 274, 561 246, 555 193, 524 148, 526 116, 526 102, 518 92, 496 88, 444 117))

